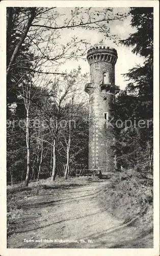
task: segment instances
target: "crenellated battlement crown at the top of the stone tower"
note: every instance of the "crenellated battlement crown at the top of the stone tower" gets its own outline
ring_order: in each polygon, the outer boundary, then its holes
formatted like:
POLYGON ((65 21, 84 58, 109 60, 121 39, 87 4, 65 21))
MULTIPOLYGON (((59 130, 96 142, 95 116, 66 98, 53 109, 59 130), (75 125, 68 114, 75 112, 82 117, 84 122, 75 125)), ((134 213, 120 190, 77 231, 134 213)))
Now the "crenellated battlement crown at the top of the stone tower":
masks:
POLYGON ((105 46, 92 47, 87 52, 87 60, 89 65, 94 62, 109 62, 112 65, 116 64, 117 61, 117 51, 114 48, 105 46))

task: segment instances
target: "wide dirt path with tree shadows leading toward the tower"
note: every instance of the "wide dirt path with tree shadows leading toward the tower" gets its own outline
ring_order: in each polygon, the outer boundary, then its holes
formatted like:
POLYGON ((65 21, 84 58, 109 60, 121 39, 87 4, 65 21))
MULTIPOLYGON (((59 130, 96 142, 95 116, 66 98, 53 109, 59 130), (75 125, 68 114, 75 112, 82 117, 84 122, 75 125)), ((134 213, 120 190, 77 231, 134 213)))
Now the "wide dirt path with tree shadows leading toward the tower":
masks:
POLYGON ((15 222, 8 248, 151 248, 150 233, 144 236, 100 207, 97 195, 105 183, 24 198, 25 214, 15 222))

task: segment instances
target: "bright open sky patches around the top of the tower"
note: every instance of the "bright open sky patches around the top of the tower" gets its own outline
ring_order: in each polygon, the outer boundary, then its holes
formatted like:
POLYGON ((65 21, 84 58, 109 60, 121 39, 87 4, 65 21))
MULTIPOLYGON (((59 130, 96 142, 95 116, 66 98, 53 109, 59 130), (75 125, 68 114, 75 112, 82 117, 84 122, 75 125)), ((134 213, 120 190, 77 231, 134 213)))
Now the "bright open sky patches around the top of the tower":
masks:
MULTIPOLYGON (((70 8, 58 8, 58 10, 63 13, 67 13, 67 9, 70 8)), ((100 8, 95 8, 100 9, 100 8)), ((114 12, 127 12, 128 8, 114 8, 114 12)), ((136 30, 131 28, 130 26, 130 19, 131 17, 127 17, 125 20, 115 20, 114 22, 110 23, 110 31, 112 34, 116 34, 121 39, 125 39, 128 37, 130 33, 134 33, 136 30)), ((116 45, 114 40, 109 40, 109 38, 104 38, 103 33, 99 33, 96 30, 84 30, 82 28, 77 28, 74 30, 62 30, 61 31, 61 40, 69 41, 72 36, 77 36, 81 39, 86 39, 87 42, 94 46, 95 44, 99 44, 99 41, 103 40, 103 45, 109 46, 111 48, 115 48, 117 50, 118 59, 115 65, 115 84, 120 86, 120 89, 124 89, 126 84, 128 83, 125 81, 125 78, 122 74, 127 73, 129 69, 135 67, 136 65, 142 65, 144 59, 136 54, 131 52, 131 48, 125 47, 122 45, 116 45), (64 34, 63 34, 64 33, 64 34)), ((76 60, 69 60, 64 65, 62 65, 61 70, 67 70, 68 72, 72 69, 76 69, 78 66, 82 67, 82 72, 90 72, 89 63, 86 59, 79 59, 76 60)))

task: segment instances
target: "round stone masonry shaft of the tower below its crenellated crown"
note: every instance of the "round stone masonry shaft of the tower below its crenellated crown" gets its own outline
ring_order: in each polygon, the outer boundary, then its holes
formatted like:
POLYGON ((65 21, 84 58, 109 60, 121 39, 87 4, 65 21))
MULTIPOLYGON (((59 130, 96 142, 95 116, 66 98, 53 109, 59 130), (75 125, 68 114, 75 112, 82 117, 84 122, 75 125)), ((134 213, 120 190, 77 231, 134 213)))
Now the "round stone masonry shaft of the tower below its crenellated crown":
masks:
POLYGON ((113 128, 105 126, 104 113, 112 118, 111 102, 114 94, 100 90, 102 72, 109 73, 109 82, 115 85, 115 67, 109 62, 90 65, 92 91, 89 101, 89 169, 100 168, 102 173, 115 169, 113 128))

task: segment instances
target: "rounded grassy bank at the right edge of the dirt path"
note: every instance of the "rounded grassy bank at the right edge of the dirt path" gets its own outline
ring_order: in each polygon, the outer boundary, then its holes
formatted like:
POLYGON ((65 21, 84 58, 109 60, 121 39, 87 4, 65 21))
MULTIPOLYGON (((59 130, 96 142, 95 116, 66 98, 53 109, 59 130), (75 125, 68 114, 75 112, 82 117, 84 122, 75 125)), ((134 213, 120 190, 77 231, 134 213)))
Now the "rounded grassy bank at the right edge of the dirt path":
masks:
POLYGON ((127 222, 137 217, 136 225, 153 228, 152 180, 142 179, 133 170, 118 173, 103 188, 100 203, 118 219, 127 222))

